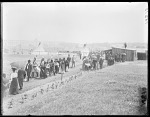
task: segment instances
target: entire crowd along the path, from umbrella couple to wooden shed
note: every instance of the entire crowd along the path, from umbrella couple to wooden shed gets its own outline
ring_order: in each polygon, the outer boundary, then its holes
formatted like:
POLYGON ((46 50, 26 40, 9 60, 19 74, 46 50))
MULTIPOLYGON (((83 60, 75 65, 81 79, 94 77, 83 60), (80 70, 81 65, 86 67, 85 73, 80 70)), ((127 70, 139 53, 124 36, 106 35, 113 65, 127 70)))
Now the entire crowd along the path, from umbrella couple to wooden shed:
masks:
MULTIPOLYGON (((115 62, 124 62, 125 61, 125 53, 115 54, 114 56, 109 53, 104 54, 94 54, 89 55, 87 57, 83 57, 82 70, 97 70, 103 68, 104 60, 107 60, 107 65, 113 65, 115 62), (94 56, 94 57, 93 57, 94 56)), ((41 59, 40 63, 37 63, 37 58, 28 60, 28 63, 23 68, 15 68, 12 67, 11 79, 6 81, 6 74, 3 74, 3 89, 9 88, 10 94, 18 94, 18 90, 22 90, 23 81, 27 82, 31 78, 47 78, 50 76, 55 76, 59 73, 65 73, 69 68, 75 67, 75 56, 70 57, 68 55, 67 58, 59 58, 59 59, 41 59)))

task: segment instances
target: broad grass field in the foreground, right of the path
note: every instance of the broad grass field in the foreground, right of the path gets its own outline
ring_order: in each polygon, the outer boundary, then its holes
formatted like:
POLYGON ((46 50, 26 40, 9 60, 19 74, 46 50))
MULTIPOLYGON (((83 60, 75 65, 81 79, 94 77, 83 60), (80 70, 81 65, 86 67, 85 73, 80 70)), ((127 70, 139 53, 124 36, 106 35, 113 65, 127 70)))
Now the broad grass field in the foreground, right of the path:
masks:
POLYGON ((147 87, 147 61, 83 72, 59 90, 10 109, 11 115, 138 115, 138 87, 147 87))

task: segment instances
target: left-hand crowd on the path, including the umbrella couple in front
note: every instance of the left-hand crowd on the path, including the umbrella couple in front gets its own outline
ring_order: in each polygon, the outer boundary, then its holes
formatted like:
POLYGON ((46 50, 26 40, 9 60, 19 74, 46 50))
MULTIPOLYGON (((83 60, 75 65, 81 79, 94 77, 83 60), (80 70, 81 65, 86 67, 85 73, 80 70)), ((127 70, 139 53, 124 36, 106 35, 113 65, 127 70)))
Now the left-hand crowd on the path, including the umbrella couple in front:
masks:
POLYGON ((3 92, 9 88, 9 94, 16 95, 23 89, 23 81, 28 82, 30 78, 47 78, 58 73, 65 73, 69 68, 75 67, 75 56, 68 55, 67 58, 47 59, 42 58, 40 64, 36 57, 33 62, 28 60, 25 69, 12 67, 10 80, 6 81, 6 74, 3 73, 3 92))

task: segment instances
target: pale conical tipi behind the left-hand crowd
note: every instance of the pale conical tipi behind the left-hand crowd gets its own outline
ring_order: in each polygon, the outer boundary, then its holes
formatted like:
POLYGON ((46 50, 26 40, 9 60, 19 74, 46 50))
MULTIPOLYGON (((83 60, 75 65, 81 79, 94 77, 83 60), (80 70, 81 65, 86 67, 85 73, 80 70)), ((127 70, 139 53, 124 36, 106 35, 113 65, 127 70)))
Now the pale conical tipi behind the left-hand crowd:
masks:
POLYGON ((32 52, 33 55, 46 55, 48 54, 45 52, 41 42, 39 43, 38 47, 32 52))

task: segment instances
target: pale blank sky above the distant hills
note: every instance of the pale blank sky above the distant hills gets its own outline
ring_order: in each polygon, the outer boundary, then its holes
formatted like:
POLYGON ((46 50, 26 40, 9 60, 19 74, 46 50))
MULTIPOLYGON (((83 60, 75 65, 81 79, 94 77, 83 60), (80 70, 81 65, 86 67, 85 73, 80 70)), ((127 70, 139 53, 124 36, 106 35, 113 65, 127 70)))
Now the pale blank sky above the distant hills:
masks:
POLYGON ((147 2, 2 4, 4 40, 148 42, 147 2))

